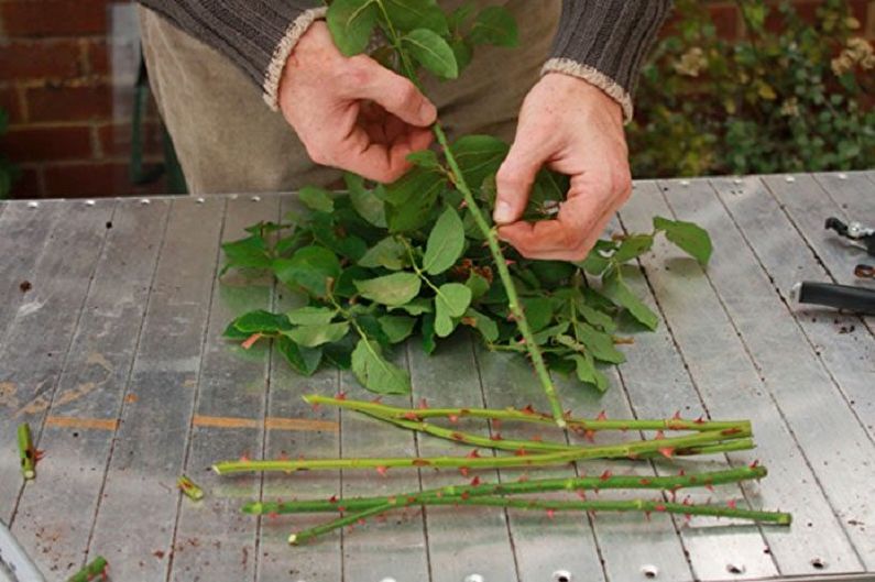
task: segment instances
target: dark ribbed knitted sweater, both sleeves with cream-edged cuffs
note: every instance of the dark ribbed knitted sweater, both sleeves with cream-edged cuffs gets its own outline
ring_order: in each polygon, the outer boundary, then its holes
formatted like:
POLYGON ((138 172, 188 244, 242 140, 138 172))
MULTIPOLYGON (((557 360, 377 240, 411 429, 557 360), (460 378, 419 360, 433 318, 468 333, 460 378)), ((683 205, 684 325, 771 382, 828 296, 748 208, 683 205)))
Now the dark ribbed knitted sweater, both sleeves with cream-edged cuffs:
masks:
MULTIPOLYGON (((140 2, 233 61, 262 87, 273 108, 285 61, 313 21, 325 14, 318 0, 140 2)), ((592 83, 631 118, 638 69, 670 6, 670 0, 565 0, 544 72, 592 83)))

